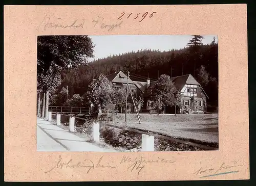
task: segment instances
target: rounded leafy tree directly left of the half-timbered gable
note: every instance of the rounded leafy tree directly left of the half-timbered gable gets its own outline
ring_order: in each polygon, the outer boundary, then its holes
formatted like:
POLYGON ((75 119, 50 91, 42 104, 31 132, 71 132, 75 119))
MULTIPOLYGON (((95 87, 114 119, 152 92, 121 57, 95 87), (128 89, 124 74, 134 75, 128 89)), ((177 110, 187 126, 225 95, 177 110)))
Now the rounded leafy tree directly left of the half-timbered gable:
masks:
POLYGON ((170 76, 163 74, 158 81, 149 88, 151 92, 151 100, 154 106, 162 107, 178 105, 178 91, 174 83, 170 80, 170 76))

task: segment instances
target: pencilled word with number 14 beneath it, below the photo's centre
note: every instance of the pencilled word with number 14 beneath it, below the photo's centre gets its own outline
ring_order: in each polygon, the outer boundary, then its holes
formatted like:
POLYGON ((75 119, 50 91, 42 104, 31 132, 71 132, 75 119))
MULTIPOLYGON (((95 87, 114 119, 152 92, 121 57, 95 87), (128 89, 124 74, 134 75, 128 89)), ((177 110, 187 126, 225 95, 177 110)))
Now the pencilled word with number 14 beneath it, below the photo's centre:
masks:
POLYGON ((157 157, 154 160, 147 160, 145 157, 136 157, 131 158, 130 156, 123 155, 122 160, 120 161, 120 164, 128 164, 127 170, 137 171, 137 174, 146 168, 147 164, 172 164, 175 163, 174 160, 167 160, 164 158, 157 157))

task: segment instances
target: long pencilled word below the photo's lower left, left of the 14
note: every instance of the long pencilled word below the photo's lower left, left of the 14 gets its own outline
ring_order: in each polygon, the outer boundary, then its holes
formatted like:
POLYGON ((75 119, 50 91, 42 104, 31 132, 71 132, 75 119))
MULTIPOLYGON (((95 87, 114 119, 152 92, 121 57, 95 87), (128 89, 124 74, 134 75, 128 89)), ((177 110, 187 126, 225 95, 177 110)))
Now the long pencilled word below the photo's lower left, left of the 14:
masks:
POLYGON ((92 169, 97 169, 97 168, 104 168, 104 169, 116 169, 115 166, 110 166, 109 164, 104 164, 102 163, 103 156, 99 158, 97 162, 93 162, 89 159, 85 159, 81 162, 73 162, 72 159, 69 161, 63 161, 62 157, 59 156, 59 160, 57 163, 48 171, 45 171, 45 173, 49 173, 55 169, 68 169, 68 168, 86 168, 87 169, 87 174, 92 170, 92 169))

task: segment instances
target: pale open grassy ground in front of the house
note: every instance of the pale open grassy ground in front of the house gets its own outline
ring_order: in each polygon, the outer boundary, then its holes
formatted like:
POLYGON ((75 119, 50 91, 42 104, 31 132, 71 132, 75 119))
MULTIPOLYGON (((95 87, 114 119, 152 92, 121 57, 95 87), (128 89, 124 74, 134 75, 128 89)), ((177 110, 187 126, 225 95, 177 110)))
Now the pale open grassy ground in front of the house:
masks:
POLYGON ((158 132, 159 134, 193 139, 202 142, 218 143, 218 114, 198 115, 156 115, 141 114, 141 124, 136 114, 127 114, 127 123, 124 114, 118 114, 115 125, 138 128, 158 132))

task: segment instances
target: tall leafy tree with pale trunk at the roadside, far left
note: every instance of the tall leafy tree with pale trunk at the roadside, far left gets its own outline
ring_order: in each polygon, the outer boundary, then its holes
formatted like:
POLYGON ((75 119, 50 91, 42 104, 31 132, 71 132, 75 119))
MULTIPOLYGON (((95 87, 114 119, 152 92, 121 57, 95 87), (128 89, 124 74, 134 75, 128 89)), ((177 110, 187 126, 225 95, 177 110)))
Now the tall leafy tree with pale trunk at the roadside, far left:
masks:
POLYGON ((60 84, 61 71, 86 64, 87 59, 93 57, 93 47, 88 36, 38 36, 37 89, 46 92, 45 118, 48 117, 49 92, 60 84))

